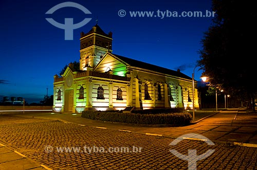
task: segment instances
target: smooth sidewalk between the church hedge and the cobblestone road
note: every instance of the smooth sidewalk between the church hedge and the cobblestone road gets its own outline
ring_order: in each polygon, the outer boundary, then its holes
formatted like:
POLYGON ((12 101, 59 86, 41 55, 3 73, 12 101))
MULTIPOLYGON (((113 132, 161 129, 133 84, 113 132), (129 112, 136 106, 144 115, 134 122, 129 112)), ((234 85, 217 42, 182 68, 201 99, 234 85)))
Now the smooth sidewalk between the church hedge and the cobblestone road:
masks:
MULTIPOLYGON (((201 134, 217 143, 257 147, 257 114, 247 113, 244 108, 219 110, 218 112, 213 112, 213 110, 202 110, 200 112, 206 112, 206 114, 201 113, 202 115, 200 118, 198 117, 197 121, 191 125, 180 127, 104 122, 82 118, 81 114, 25 113, 14 115, 59 120, 65 123, 76 123, 79 125, 93 126, 95 128, 145 135, 166 136, 171 138, 177 138, 188 133, 195 133, 201 134)), ((196 117, 198 116, 197 113, 200 112, 195 112, 196 117)))

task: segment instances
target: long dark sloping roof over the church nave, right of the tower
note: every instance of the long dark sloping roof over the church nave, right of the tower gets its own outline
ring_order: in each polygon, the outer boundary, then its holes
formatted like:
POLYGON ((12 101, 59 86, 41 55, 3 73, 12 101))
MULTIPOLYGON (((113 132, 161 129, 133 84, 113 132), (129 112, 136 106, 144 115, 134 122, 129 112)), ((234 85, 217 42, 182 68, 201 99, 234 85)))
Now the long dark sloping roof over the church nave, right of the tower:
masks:
POLYGON ((181 77, 181 78, 185 78, 185 79, 190 79, 190 80, 192 79, 190 76, 187 76, 186 74, 183 74, 180 71, 170 70, 167 68, 159 67, 159 66, 147 63, 147 62, 135 60, 132 58, 127 58, 127 57, 120 56, 117 54, 113 54, 113 55, 116 56, 117 58, 121 59, 122 61, 126 62, 128 65, 130 65, 132 67, 151 70, 151 71, 168 74, 168 75, 172 75, 172 76, 176 76, 176 77, 181 77))

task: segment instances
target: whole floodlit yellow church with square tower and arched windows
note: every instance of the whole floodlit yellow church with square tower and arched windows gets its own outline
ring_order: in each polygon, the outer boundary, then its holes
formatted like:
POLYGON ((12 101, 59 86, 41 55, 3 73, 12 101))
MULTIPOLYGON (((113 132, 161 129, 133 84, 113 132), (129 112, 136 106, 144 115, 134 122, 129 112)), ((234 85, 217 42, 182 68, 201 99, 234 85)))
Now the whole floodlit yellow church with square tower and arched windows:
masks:
MULTIPOLYGON (((81 33, 80 70, 69 64, 60 77, 54 75, 53 111, 81 113, 84 110, 125 108, 199 109, 192 78, 167 68, 112 53, 112 32, 98 25, 81 33)), ((194 81, 197 87, 197 81, 194 81)))

